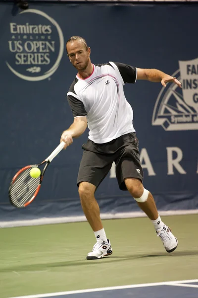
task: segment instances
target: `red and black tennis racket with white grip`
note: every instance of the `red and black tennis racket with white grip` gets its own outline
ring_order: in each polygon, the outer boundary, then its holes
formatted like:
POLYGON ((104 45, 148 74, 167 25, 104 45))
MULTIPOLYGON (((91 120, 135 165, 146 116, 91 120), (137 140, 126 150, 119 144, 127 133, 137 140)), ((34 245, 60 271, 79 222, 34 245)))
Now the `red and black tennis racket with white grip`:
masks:
POLYGON ((64 145, 65 143, 61 142, 44 161, 34 165, 27 165, 14 175, 9 186, 9 199, 13 206, 18 208, 26 207, 36 198, 49 163, 64 148, 64 145), (40 169, 40 176, 32 178, 30 170, 33 167, 40 166, 44 167, 43 170, 40 169))

